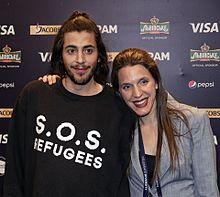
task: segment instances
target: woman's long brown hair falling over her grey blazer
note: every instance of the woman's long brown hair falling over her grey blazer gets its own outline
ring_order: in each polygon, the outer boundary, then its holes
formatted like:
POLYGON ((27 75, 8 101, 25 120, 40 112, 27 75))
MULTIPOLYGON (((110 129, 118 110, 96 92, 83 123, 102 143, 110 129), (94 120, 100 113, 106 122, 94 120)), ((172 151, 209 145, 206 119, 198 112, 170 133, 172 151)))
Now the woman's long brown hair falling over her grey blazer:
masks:
POLYGON ((168 93, 165 90, 161 75, 156 62, 151 58, 151 56, 144 50, 137 48, 129 48, 120 52, 113 61, 113 68, 111 74, 111 82, 115 91, 119 91, 118 83, 118 72, 121 68, 126 66, 143 65, 153 76, 154 80, 158 84, 158 89, 156 90, 156 103, 157 103, 157 120, 158 120, 158 143, 157 143, 157 153, 156 153, 156 164, 154 170, 154 178, 159 173, 160 166, 160 156, 162 148, 163 134, 168 141, 169 154, 170 154, 170 167, 175 168, 176 161, 178 161, 178 147, 176 143, 175 136, 179 136, 178 132, 171 121, 171 117, 177 117, 183 120, 183 122, 188 125, 186 116, 178 109, 173 109, 167 105, 168 93))

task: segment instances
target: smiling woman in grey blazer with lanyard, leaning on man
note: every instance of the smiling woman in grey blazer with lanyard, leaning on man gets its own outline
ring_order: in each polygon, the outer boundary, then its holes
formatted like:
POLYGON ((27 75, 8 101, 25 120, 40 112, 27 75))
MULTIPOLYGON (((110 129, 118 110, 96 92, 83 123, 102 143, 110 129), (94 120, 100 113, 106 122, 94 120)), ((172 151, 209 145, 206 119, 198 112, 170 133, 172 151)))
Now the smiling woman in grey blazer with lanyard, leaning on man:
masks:
POLYGON ((129 168, 132 197, 219 196, 213 133, 205 111, 174 100, 140 49, 113 62, 112 85, 137 115, 129 168))

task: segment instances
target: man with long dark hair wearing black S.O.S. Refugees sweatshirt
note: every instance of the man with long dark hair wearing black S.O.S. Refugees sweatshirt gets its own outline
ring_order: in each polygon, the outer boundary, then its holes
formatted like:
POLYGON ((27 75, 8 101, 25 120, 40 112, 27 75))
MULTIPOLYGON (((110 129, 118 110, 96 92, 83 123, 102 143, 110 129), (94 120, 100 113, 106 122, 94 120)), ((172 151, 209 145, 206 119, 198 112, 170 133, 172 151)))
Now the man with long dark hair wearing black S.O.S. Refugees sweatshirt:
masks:
POLYGON ((75 11, 59 30, 51 65, 61 80, 32 81, 9 129, 4 197, 126 197, 130 111, 105 85, 96 24, 75 11))

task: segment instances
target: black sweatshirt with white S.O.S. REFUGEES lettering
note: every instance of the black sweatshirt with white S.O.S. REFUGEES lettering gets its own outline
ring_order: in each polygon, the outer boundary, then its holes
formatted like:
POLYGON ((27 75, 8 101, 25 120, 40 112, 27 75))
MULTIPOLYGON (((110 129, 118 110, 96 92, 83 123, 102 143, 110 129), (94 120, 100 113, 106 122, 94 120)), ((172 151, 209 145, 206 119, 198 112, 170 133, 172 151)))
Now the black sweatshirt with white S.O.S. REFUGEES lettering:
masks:
POLYGON ((79 96, 30 82, 13 111, 3 196, 129 196, 131 117, 107 86, 79 96))

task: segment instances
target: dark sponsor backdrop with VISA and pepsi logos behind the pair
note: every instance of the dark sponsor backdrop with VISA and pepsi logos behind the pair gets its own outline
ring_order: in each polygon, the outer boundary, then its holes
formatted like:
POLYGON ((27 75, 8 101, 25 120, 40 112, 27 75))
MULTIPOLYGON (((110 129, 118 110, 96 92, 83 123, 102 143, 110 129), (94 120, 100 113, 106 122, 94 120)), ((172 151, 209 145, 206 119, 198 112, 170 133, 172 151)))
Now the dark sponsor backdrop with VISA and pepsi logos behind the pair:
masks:
POLYGON ((97 22, 110 65, 124 48, 145 49, 158 62, 171 94, 207 110, 219 168, 219 7, 219 0, 1 0, 0 190, 15 99, 28 81, 48 72, 54 34, 73 10, 88 12, 97 22))

